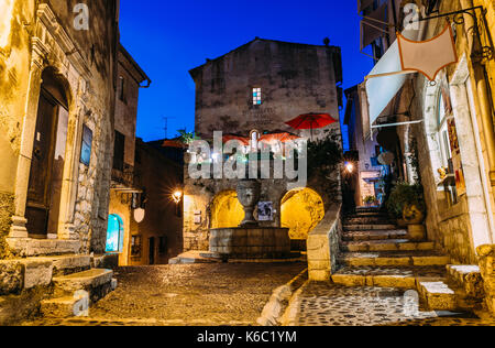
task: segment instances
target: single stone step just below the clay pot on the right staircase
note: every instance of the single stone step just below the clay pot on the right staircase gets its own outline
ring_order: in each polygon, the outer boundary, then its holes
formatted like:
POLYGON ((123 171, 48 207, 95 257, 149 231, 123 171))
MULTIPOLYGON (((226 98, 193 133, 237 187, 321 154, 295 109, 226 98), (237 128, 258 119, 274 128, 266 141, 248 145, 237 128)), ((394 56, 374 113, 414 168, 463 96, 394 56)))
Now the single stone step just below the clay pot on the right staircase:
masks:
POLYGON ((349 252, 366 252, 366 251, 415 251, 415 250, 433 250, 433 242, 413 242, 408 239, 386 239, 386 240, 367 240, 351 241, 342 243, 341 250, 349 252))

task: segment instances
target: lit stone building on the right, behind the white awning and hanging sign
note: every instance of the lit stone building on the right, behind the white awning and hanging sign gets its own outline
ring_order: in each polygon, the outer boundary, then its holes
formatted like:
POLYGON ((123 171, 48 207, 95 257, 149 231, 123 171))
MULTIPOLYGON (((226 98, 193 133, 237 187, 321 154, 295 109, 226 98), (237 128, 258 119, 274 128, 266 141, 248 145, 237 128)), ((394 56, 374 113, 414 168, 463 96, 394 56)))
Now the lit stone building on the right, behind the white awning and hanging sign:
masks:
POLYGON ((493 264, 488 265, 495 241, 494 3, 403 1, 398 20, 408 3, 419 6, 418 15, 425 20, 406 37, 430 40, 451 25, 458 62, 442 68, 433 81, 417 73, 383 77, 383 84, 400 88, 371 122, 395 126, 399 178, 414 183, 419 176, 425 189, 428 239, 452 263, 480 262, 486 303, 495 312, 493 264), (417 166, 411 161, 415 152, 417 166))

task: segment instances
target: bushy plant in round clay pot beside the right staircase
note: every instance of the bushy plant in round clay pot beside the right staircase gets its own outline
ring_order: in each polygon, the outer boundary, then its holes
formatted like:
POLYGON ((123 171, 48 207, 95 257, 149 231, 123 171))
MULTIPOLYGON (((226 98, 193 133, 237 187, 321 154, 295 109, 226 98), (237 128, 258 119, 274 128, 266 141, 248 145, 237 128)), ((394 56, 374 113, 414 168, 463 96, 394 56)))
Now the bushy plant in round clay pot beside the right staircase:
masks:
POLYGON ((399 182, 392 189, 386 203, 388 213, 397 219, 399 226, 407 226, 409 239, 424 240, 426 230, 422 226, 426 204, 422 186, 399 182))

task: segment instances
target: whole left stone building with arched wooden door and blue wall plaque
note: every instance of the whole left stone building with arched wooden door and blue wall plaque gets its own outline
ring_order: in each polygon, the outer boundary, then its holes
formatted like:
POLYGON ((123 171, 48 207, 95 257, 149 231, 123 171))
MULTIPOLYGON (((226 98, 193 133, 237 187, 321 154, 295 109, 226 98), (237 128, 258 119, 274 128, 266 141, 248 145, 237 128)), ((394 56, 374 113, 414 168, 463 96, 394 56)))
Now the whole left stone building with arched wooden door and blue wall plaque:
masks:
POLYGON ((90 301, 114 286, 89 269, 106 251, 118 44, 118 1, 0 3, 0 295, 23 298, 1 302, 2 323, 44 296, 74 295, 47 315, 86 303, 72 279, 90 301))

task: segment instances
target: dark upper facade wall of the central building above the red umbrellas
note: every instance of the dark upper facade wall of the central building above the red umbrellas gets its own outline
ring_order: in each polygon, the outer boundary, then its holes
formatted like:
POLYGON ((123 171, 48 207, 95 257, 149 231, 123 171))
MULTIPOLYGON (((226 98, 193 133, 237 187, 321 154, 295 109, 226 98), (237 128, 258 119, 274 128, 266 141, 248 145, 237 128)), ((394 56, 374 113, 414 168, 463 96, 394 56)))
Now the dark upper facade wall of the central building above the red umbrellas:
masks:
MULTIPOLYGON (((256 39, 208 61, 190 72, 196 83, 196 131, 207 139, 217 130, 242 135, 254 129, 294 132, 285 122, 308 112, 328 112, 338 120, 340 55, 334 46, 256 39), (262 89, 260 106, 253 105, 255 87, 262 89)), ((339 129, 339 123, 331 128, 339 129)))

